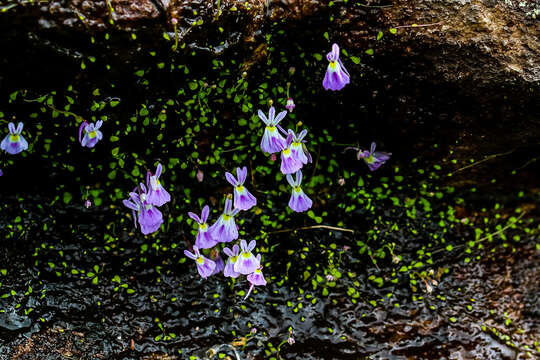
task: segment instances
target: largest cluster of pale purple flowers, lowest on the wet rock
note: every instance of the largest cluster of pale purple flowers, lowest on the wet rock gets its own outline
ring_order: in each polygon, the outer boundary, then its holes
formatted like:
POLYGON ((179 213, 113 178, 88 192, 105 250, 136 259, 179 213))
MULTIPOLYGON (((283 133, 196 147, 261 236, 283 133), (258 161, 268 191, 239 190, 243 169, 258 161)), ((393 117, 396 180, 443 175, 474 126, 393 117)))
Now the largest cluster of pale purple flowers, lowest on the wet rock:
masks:
POLYGON ((229 257, 226 263, 219 256, 217 246, 219 243, 230 243, 238 239, 235 216, 241 210, 249 210, 255 206, 257 199, 244 186, 247 178, 246 167, 236 168, 236 177, 226 172, 225 178, 233 186, 234 202, 230 199, 233 196, 229 194, 225 199, 223 213, 211 226, 208 225, 208 216, 210 214, 208 205, 203 207, 200 217, 195 213, 188 213, 189 217, 197 223, 198 230, 193 252, 184 250, 184 254, 188 258, 195 260, 197 271, 202 278, 218 274, 221 271, 223 271, 225 277, 230 278, 246 275, 250 283, 249 296, 254 286, 266 285, 261 270, 261 256, 260 254, 255 256, 252 252, 255 249, 255 240, 250 241, 249 244, 246 240, 240 240, 240 246, 234 244, 231 248, 224 247, 223 252, 229 257), (206 249, 208 254, 211 255, 210 258, 201 255, 202 249, 206 249))

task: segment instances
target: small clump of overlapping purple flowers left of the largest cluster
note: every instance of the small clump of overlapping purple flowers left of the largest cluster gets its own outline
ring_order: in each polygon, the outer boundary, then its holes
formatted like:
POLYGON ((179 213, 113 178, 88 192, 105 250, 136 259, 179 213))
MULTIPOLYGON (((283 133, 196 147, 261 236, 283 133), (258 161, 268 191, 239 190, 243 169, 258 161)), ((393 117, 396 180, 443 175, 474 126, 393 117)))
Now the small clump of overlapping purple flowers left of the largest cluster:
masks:
POLYGON ((131 209, 135 227, 137 222, 144 235, 157 231, 163 224, 163 214, 157 208, 171 200, 171 196, 159 182, 162 167, 158 164, 156 173, 146 174, 146 185, 141 183, 129 193, 129 199, 123 200, 124 205, 131 209))

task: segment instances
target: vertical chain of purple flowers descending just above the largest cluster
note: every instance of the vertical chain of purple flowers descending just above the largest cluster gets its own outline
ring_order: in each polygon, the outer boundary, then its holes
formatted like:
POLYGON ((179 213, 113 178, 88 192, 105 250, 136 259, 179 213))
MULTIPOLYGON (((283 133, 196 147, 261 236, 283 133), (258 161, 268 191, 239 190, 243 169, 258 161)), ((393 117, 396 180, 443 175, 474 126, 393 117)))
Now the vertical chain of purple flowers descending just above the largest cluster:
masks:
POLYGON ((273 106, 270 107, 268 117, 261 110, 258 112, 259 118, 266 124, 261 149, 272 156, 275 152, 281 152, 280 170, 286 175, 287 181, 292 187, 289 207, 296 212, 303 212, 311 208, 313 204, 300 187, 302 183, 301 169, 312 161, 304 140, 307 130, 304 129, 299 134, 296 134, 292 129, 285 131, 279 122, 287 115, 287 111, 280 112, 277 117, 275 113, 276 110, 273 106), (280 132, 287 138, 283 138, 280 132), (274 146, 270 146, 271 144, 274 146), (296 174, 296 180, 293 181, 291 174, 296 174))

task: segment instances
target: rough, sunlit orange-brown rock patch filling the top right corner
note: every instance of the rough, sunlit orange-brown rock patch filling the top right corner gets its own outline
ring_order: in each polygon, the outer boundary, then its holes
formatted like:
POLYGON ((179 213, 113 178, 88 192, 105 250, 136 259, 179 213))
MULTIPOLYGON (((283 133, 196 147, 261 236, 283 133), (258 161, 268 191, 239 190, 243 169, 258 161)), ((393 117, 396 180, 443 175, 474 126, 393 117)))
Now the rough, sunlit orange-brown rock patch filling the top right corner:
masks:
POLYGON ((540 23, 503 1, 397 1, 383 22, 428 24, 399 30, 407 53, 424 53, 428 76, 477 86, 538 84, 540 23), (434 25, 431 25, 434 24, 434 25), (431 50, 431 51, 426 51, 431 50))

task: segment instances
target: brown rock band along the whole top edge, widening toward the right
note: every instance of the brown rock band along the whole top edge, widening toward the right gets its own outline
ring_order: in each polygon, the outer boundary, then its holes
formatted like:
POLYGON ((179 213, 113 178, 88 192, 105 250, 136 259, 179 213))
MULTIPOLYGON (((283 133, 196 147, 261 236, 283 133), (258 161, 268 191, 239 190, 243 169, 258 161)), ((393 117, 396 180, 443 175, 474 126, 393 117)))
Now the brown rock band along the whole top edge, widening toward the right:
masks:
POLYGON ((392 40, 378 42, 377 54, 415 62, 414 72, 395 71, 477 89, 539 84, 540 23, 533 18, 535 10, 533 5, 513 0, 419 0, 414 4, 396 0, 367 5, 314 0, 69 0, 43 5, 21 2, 6 13, 29 15, 26 26, 55 32, 150 30, 157 38, 162 32, 172 32, 171 19, 175 18, 179 33, 199 46, 209 40, 204 37, 208 30, 219 26, 235 34, 235 43, 250 44, 251 50, 257 48, 256 35, 266 22, 301 26, 331 16, 342 46, 370 47, 380 29, 392 40), (390 28, 397 28, 396 35, 390 35, 390 28))

